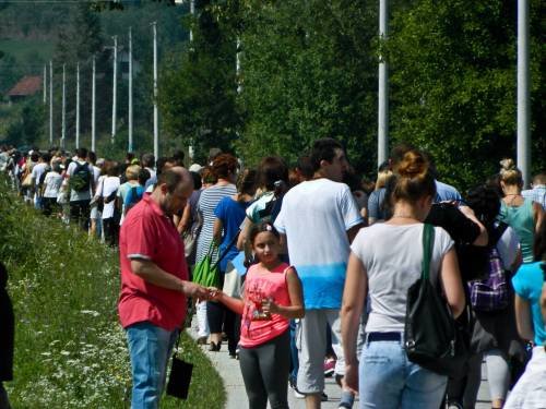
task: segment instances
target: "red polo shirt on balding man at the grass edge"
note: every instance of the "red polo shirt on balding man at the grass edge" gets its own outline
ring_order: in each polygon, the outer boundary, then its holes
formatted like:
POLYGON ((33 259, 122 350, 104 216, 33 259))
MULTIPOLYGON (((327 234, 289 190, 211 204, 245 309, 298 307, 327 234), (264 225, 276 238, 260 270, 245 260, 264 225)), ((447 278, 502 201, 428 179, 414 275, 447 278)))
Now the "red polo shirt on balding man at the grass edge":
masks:
POLYGON ((143 321, 167 330, 179 328, 186 316, 185 294, 146 282, 131 270, 131 258, 145 258, 169 274, 188 279, 180 236, 150 195, 134 205, 121 225, 119 258, 118 312, 123 328, 143 321))

